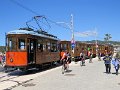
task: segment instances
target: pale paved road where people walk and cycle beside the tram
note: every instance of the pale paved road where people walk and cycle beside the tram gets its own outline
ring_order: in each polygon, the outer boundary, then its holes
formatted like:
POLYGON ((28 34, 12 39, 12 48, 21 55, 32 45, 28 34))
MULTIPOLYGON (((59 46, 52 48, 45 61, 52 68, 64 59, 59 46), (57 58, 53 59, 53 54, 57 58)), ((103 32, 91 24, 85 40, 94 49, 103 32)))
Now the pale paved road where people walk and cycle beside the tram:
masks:
POLYGON ((93 63, 86 61, 82 67, 79 62, 72 62, 65 74, 60 66, 28 75, 12 75, 12 80, 0 86, 8 90, 120 90, 120 74, 114 72, 112 66, 111 74, 106 74, 104 62, 95 58, 93 63), (7 86, 8 83, 12 86, 7 86))

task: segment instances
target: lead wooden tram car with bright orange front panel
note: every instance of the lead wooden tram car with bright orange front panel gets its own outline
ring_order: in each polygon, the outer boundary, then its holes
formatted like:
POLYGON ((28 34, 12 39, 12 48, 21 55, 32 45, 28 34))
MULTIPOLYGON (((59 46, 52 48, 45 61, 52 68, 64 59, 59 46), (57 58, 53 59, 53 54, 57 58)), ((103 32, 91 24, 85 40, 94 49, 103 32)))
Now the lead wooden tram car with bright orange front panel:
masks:
POLYGON ((59 39, 44 31, 21 28, 6 35, 6 67, 21 70, 60 60, 59 39))

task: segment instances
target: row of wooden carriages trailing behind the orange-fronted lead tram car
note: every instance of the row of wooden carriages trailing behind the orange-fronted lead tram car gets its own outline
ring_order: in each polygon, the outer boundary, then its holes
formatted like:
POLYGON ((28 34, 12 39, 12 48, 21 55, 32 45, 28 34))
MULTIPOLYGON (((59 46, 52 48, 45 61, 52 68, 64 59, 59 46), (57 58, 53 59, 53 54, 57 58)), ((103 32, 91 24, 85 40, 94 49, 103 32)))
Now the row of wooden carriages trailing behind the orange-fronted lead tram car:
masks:
POLYGON ((86 55, 86 58, 89 58, 88 52, 93 53, 93 57, 96 57, 98 53, 101 53, 101 56, 104 56, 106 53, 112 54, 113 53, 113 46, 112 45, 104 45, 104 44, 93 44, 93 43, 83 43, 80 41, 76 41, 74 53, 72 52, 71 48, 71 41, 61 41, 60 42, 60 51, 61 56, 62 53, 67 50, 75 60, 79 60, 80 53, 83 52, 86 55))

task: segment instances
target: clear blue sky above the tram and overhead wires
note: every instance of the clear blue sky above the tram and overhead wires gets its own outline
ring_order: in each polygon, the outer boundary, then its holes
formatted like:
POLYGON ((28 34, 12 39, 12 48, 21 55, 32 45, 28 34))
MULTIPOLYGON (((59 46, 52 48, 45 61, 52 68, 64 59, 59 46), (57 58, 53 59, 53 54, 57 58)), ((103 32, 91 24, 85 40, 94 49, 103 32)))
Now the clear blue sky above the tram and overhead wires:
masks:
MULTIPOLYGON (((5 45, 6 32, 26 27, 25 23, 37 15, 12 1, 17 1, 54 22, 70 23, 73 14, 74 32, 96 30, 98 40, 103 40, 104 35, 108 33, 112 36, 111 40, 120 41, 120 0, 1 0, 0 46, 5 45)), ((50 21, 48 23, 51 26, 46 28, 48 33, 58 36, 61 40, 71 40, 69 29, 50 21)), ((94 35, 87 37, 75 35, 75 40, 79 41, 93 39, 95 39, 94 35)))

